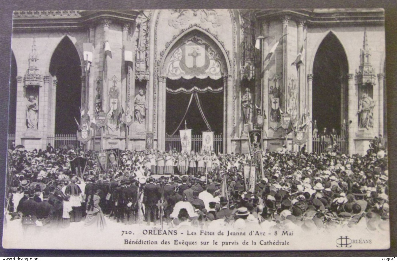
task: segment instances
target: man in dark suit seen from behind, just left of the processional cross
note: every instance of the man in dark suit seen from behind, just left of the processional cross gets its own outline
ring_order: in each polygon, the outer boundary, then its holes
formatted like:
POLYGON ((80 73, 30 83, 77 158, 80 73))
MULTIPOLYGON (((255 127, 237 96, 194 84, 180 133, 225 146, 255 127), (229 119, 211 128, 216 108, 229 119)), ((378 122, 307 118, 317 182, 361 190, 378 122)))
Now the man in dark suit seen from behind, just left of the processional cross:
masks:
POLYGON ((160 200, 160 192, 159 187, 154 185, 152 177, 148 178, 148 182, 143 189, 143 204, 145 204, 147 224, 150 225, 151 217, 153 217, 154 225, 156 225, 156 204, 160 200))

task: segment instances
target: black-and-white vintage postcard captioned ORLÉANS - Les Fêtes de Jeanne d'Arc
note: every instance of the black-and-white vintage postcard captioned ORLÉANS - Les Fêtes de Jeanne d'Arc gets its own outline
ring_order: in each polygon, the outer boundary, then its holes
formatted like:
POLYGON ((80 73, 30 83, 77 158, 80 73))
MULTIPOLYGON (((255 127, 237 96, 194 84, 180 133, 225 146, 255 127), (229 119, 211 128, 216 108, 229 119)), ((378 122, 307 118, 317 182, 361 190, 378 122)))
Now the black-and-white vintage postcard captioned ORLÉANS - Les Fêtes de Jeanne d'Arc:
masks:
POLYGON ((14 11, 4 248, 388 249, 384 19, 14 11))

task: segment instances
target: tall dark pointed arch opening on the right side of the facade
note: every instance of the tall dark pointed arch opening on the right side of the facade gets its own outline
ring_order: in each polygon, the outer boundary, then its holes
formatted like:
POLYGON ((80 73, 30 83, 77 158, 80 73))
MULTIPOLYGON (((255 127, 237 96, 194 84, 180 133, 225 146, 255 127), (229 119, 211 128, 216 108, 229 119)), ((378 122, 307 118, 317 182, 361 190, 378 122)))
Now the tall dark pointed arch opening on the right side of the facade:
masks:
POLYGON ((340 137, 347 135, 348 72, 345 50, 330 32, 318 47, 313 63, 312 120, 316 121, 313 127, 317 126, 320 137, 330 135, 332 129, 340 137))

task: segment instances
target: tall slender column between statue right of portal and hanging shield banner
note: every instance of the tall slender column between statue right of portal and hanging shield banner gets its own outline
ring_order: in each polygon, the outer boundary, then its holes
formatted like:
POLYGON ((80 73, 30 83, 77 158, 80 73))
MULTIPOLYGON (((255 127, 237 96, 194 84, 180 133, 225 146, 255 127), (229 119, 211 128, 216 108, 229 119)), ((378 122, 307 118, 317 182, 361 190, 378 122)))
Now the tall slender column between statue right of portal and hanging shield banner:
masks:
MULTIPOLYGON (((263 23, 263 34, 265 38, 262 40, 262 71, 263 71, 263 77, 262 77, 262 110, 263 113, 266 115, 266 120, 263 120, 263 130, 264 133, 267 133, 267 130, 269 129, 269 120, 268 118, 270 117, 270 110, 269 110, 269 69, 266 69, 266 64, 264 63, 264 59, 266 58, 266 55, 269 53, 269 42, 268 42, 268 36, 269 36, 269 23, 264 22, 263 23)), ((262 72, 261 71, 261 72, 262 72)))

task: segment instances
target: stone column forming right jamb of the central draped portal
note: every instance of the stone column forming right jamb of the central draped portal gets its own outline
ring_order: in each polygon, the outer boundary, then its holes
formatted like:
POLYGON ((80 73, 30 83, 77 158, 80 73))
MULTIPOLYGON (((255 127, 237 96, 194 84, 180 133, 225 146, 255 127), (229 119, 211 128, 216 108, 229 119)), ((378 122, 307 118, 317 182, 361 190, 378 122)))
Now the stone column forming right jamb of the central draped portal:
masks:
POLYGON ((231 132, 233 130, 233 77, 224 76, 224 86, 226 88, 226 132, 224 133, 224 142, 226 142, 226 153, 231 153, 231 132))

